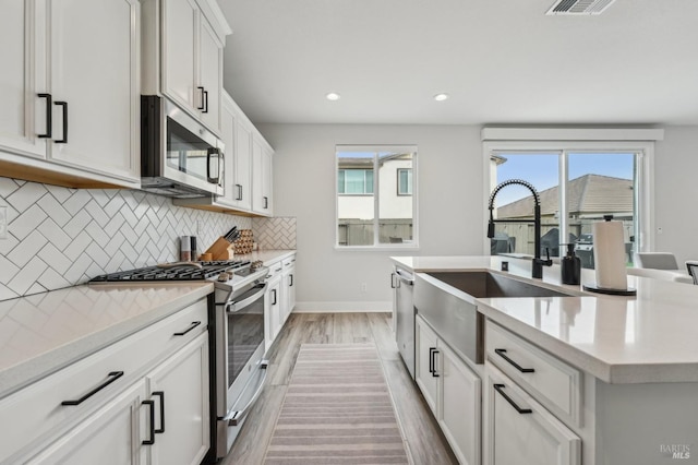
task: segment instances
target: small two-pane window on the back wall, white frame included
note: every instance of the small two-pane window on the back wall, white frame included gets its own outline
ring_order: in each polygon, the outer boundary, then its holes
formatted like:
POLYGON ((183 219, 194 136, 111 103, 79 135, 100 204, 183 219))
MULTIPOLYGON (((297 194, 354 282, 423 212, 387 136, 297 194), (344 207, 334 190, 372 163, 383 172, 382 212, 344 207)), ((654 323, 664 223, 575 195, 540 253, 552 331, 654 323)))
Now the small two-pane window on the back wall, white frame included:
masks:
POLYGON ((414 146, 336 147, 337 247, 417 247, 414 146))

